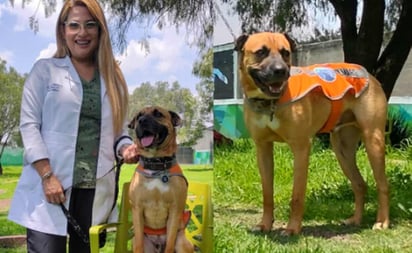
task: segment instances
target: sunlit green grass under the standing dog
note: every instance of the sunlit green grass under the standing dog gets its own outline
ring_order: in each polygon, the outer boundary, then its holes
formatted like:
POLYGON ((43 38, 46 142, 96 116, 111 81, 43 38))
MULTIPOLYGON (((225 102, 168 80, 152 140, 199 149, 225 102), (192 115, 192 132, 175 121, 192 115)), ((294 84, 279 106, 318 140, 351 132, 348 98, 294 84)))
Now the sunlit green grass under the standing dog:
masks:
POLYGON ((283 237, 289 217, 293 158, 284 144, 275 145, 275 222, 270 233, 254 233, 262 196, 255 148, 250 140, 214 152, 215 252, 412 252, 412 148, 387 151, 391 184, 391 228, 371 230, 376 216, 376 190, 364 149, 358 166, 368 184, 364 221, 342 226, 352 214, 353 195, 334 154, 314 145, 310 158, 306 209, 301 235, 283 237))

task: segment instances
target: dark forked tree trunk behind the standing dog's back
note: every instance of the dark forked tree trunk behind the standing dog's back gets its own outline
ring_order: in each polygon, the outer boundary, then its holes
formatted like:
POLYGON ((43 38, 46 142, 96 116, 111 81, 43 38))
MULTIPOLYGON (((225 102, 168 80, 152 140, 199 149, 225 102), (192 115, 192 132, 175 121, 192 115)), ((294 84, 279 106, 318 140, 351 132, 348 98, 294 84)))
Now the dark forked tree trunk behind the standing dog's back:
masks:
POLYGON ((403 0, 393 36, 379 58, 383 44, 385 0, 364 0, 359 31, 356 25, 356 0, 329 0, 341 19, 345 62, 364 66, 382 83, 389 99, 395 82, 408 58, 412 33, 412 1, 403 0))

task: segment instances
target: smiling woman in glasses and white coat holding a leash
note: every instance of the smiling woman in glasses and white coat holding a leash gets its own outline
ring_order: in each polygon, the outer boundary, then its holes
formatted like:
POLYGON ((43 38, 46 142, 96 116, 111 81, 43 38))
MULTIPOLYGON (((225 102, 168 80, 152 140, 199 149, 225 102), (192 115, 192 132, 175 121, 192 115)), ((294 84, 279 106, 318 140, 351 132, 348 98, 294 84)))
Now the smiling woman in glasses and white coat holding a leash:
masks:
POLYGON ((96 0, 65 1, 56 38, 54 57, 36 62, 24 85, 24 168, 9 219, 27 228, 28 252, 66 252, 67 233, 69 252, 89 252, 60 203, 87 234, 117 218, 115 155, 137 162, 128 92, 96 0))

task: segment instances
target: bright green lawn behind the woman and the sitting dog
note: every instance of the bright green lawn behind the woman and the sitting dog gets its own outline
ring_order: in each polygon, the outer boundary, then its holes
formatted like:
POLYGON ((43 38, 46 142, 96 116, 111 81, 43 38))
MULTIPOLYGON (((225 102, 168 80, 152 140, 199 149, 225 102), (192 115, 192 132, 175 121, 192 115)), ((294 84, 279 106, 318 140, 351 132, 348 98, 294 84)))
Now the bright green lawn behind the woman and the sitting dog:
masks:
MULTIPOLYGON (((203 182, 213 183, 213 169, 211 165, 181 165, 185 176, 190 182, 203 182)), ((124 182, 130 181, 132 175, 135 171, 135 165, 125 164, 121 168, 120 179, 119 179, 119 197, 118 202, 121 199, 122 186, 124 182)), ((0 176, 0 200, 10 199, 13 196, 14 188, 16 187, 17 181, 21 173, 21 167, 18 166, 4 166, 4 174, 0 176)), ((8 209, 0 209, 0 236, 4 235, 21 235, 25 234, 25 229, 9 220, 7 220, 8 209)), ((109 235, 107 251, 110 252, 112 249, 114 237, 109 235)), ((2 249, 0 248, 0 253, 2 252, 26 252, 25 247, 17 249, 2 249)))

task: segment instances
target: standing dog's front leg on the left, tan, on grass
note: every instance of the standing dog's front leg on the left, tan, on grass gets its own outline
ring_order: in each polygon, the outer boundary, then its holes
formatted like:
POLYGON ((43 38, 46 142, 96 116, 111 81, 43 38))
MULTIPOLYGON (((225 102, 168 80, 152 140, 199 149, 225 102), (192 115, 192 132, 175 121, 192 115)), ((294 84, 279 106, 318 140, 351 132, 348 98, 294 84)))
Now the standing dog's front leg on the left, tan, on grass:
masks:
POLYGON ((253 230, 268 232, 273 224, 273 142, 256 142, 257 163, 263 191, 263 216, 253 230))

